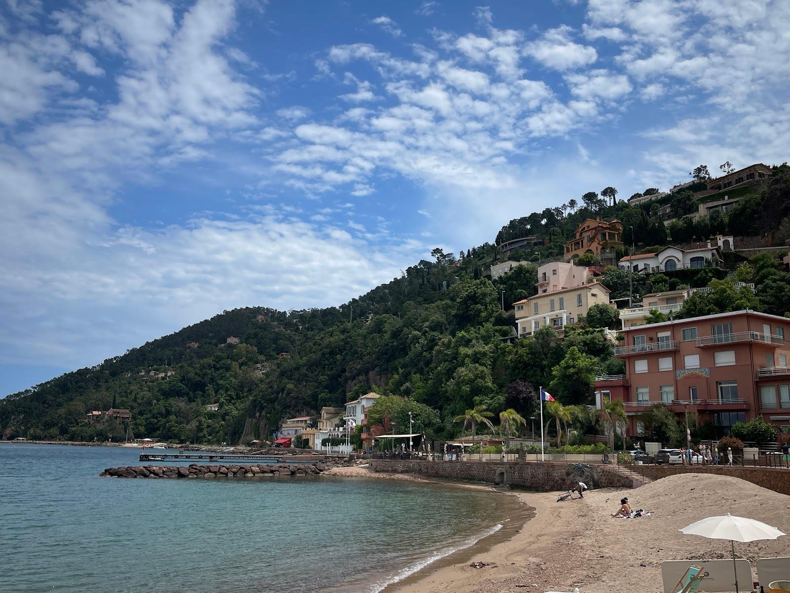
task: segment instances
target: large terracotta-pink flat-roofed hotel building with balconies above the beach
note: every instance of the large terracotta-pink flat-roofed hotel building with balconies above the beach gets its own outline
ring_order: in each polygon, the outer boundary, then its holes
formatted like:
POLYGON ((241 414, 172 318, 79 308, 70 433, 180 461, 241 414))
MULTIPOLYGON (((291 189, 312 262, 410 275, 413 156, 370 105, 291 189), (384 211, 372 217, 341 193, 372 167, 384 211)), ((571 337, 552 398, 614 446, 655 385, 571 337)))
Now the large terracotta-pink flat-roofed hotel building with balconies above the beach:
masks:
POLYGON ((685 410, 724 436, 737 421, 762 415, 777 430, 790 425, 790 319, 735 311, 623 330, 615 356, 626 374, 596 377, 596 402, 622 399, 630 435, 656 403, 685 410))

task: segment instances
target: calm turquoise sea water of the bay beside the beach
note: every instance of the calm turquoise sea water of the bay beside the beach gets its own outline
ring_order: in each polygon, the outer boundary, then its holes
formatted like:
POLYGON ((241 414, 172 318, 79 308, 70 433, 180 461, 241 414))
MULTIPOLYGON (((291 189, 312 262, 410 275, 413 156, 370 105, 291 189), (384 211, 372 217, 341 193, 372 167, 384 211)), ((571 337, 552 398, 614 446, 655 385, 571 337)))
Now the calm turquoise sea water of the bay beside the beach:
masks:
POLYGON ((98 477, 139 453, 0 444, 0 590, 380 591, 497 531, 510 498, 370 479, 98 477))

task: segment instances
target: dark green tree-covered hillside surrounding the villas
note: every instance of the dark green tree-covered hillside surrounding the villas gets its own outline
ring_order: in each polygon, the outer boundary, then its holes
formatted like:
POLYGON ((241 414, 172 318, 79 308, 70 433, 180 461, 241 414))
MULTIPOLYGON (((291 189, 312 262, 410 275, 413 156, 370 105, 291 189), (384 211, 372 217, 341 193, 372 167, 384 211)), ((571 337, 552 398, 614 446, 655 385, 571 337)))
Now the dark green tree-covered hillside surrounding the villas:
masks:
MULTIPOLYGON (((707 229, 696 237, 709 236, 712 224, 790 236, 790 168, 776 171, 724 219, 681 218, 678 224, 694 232, 707 229)), ((682 196, 686 208, 696 199, 688 193, 682 196)), ((633 226, 637 251, 668 243, 654 204, 607 206, 600 198, 585 198, 581 207, 563 205, 514 219, 495 244, 461 251, 458 258, 436 249, 435 261, 423 260, 339 308, 223 312, 96 367, 9 395, 0 400, 0 438, 118 440, 124 429, 115 421, 92 426, 85 420, 91 410, 112 406, 131 411, 135 436, 236 443, 269 436, 284 417, 314 415, 321 406, 341 405, 371 389, 434 407, 442 417, 435 432, 444 436, 460 429, 454 416, 481 403, 495 414, 513 407, 529 416, 539 385, 551 385, 563 403, 587 403, 596 374, 622 372, 611 344, 595 329, 616 328, 611 315, 580 319, 562 342, 550 329, 514 344, 503 339, 513 332, 510 304, 536 291, 535 263, 559 255, 585 218, 623 221, 626 245, 633 226), (503 240, 528 235, 548 244, 498 253, 503 240), (503 259, 526 265, 494 281, 484 278, 488 266, 503 259), (226 344, 231 336, 240 343, 226 344), (209 403, 220 409, 205 410, 209 403)), ((751 265, 739 266, 746 257, 729 253, 726 264, 737 269, 735 279, 756 281, 756 295, 721 280, 727 270, 710 269, 640 275, 634 293, 710 285, 710 293, 692 296, 679 315, 745 306, 784 315, 790 309, 790 274, 779 269, 776 255, 757 255, 751 265)), ((610 267, 598 280, 611 298, 628 296, 629 278, 622 270, 610 267)))

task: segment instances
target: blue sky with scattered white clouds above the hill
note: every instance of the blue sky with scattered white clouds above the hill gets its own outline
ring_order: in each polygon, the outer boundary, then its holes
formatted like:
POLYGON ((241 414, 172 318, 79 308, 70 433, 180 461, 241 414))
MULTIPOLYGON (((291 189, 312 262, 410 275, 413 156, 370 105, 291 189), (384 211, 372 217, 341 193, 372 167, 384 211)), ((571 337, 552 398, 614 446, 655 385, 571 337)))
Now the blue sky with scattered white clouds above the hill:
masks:
POLYGON ((788 160, 790 2, 0 0, 0 396, 788 160))

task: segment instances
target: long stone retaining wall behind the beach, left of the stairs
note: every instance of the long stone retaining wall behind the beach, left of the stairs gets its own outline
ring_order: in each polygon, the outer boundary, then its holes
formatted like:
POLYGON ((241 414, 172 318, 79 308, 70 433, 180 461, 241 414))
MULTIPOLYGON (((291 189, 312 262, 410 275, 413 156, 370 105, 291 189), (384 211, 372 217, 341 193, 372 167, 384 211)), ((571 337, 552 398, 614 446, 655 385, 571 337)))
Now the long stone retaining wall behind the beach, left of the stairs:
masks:
POLYGON ((605 466, 572 463, 497 463, 479 461, 401 461, 371 459, 371 470, 417 474, 464 482, 486 482, 550 492, 572 488, 577 481, 592 488, 631 488, 633 480, 605 466))

